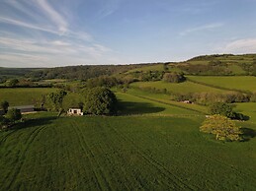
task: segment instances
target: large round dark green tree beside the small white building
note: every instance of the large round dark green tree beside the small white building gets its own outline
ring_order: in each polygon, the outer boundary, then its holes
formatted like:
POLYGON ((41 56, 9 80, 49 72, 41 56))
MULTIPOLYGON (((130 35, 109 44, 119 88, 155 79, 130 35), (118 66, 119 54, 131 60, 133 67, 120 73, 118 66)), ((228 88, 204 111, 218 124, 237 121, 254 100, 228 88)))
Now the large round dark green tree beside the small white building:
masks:
POLYGON ((94 115, 117 113, 117 97, 107 88, 97 87, 88 91, 84 112, 94 115))

